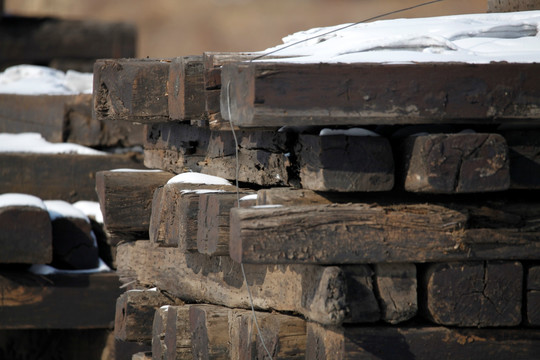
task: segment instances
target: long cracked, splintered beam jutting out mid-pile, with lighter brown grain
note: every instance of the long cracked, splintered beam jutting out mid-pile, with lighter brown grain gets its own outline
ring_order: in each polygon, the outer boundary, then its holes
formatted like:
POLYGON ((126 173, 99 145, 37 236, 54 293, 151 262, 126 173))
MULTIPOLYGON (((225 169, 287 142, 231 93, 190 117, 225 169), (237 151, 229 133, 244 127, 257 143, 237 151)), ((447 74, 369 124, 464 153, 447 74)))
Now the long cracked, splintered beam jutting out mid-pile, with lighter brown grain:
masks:
POLYGON ((534 225, 467 228, 475 217, 456 209, 430 204, 233 208, 229 250, 237 262, 260 264, 539 258, 534 225))

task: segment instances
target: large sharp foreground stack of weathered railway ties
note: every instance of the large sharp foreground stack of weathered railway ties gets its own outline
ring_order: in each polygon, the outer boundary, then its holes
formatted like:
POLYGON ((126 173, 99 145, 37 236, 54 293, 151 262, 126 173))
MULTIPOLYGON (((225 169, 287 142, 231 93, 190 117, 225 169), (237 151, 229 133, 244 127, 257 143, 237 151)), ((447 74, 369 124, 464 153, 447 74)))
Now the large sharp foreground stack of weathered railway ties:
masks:
POLYGON ((537 356, 538 65, 250 58, 95 64, 162 170, 97 175, 133 358, 537 356))

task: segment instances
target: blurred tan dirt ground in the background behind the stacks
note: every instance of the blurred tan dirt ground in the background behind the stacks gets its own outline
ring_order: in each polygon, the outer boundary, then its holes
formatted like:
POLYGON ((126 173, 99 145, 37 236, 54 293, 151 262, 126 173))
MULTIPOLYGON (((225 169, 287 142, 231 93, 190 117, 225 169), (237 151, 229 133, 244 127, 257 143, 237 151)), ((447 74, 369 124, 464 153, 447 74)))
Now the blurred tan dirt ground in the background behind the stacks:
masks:
MULTIPOLYGON (((264 50, 290 33, 363 19, 422 0, 4 0, 5 12, 29 16, 130 22, 137 57, 203 51, 264 50)), ((482 13, 487 0, 444 0, 390 15, 425 17, 482 13)))

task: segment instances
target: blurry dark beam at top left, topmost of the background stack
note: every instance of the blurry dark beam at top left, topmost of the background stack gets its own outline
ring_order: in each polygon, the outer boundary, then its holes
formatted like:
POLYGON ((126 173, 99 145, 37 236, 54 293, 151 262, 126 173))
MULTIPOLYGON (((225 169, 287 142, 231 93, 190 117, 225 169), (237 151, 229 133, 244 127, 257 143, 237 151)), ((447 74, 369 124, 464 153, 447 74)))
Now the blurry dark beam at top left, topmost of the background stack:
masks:
POLYGON ((130 24, 6 16, 0 21, 0 67, 64 58, 79 60, 84 65, 79 70, 91 72, 96 59, 134 57, 135 42, 136 29, 130 24))

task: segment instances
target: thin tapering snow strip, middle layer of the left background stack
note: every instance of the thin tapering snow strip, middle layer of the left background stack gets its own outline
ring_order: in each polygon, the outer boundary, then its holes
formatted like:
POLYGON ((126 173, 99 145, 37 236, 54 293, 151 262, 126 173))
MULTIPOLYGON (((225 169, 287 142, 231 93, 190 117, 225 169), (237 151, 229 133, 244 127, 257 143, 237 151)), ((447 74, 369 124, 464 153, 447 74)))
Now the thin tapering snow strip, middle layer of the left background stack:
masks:
POLYGON ((50 143, 39 133, 0 133, 0 153, 106 155, 103 151, 71 144, 50 143))

